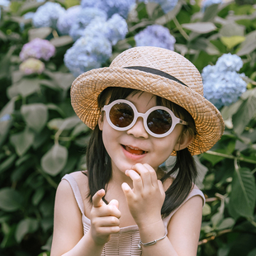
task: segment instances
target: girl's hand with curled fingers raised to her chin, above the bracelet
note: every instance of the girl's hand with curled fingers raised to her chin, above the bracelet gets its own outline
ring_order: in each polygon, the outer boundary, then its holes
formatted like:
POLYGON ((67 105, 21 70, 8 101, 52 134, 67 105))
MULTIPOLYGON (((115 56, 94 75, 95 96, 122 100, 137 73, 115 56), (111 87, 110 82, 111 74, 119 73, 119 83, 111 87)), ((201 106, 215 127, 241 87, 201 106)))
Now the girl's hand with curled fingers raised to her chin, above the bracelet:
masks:
POLYGON ((161 220, 165 192, 154 168, 149 164, 135 164, 126 170, 126 175, 132 179, 133 188, 123 183, 122 190, 136 224, 140 227, 161 220))

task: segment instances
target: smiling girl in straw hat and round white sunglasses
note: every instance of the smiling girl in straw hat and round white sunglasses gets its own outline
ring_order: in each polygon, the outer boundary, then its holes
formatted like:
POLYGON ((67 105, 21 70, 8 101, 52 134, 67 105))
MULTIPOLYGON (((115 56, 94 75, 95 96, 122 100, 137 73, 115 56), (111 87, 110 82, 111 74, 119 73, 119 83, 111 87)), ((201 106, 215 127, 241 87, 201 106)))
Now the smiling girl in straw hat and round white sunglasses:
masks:
POLYGON ((76 78, 73 109, 93 129, 88 170, 59 183, 51 256, 197 255, 204 196, 192 154, 224 130, 202 95, 195 66, 157 47, 76 78), (159 168, 171 154, 174 167, 159 168))

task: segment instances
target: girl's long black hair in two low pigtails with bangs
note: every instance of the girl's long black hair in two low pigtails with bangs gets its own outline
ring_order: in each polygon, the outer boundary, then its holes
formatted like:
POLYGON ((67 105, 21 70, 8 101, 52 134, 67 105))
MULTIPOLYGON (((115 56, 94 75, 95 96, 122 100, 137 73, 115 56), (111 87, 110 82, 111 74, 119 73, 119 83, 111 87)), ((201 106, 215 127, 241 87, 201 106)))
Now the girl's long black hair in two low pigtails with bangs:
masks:
MULTIPOLYGON (((130 88, 106 88, 97 99, 98 107, 101 109, 106 104, 107 100, 108 103, 111 103, 116 99, 125 99, 129 95, 135 95, 136 93, 143 92, 130 88)), ((196 135, 195 122, 192 116, 183 107, 161 97, 157 97, 157 105, 169 107, 176 116, 187 121, 188 125, 184 126, 183 132, 196 135)), ((173 179, 173 183, 165 192, 166 197, 161 210, 163 218, 168 216, 183 203, 197 178, 197 168, 189 150, 187 148, 178 150, 176 154, 176 164, 161 178, 162 183, 164 183, 173 173, 178 171, 177 177, 173 179)), ((93 195, 98 190, 102 188, 107 190, 107 184, 111 179, 111 158, 103 145, 102 130, 99 129, 98 125, 92 131, 91 139, 88 143, 87 168, 89 185, 88 197, 90 197, 92 201, 93 195)))

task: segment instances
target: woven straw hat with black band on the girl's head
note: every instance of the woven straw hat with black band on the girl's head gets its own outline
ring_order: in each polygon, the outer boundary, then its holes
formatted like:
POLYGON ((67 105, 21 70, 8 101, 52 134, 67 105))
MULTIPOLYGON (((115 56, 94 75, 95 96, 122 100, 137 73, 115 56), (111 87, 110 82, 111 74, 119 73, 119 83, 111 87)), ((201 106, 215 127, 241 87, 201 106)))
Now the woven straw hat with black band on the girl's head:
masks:
POLYGON ((118 55, 109 68, 92 69, 78 76, 71 87, 71 103, 91 129, 100 115, 97 97, 107 87, 139 89, 185 108, 197 127, 197 135, 188 147, 191 154, 211 149, 223 134, 220 111, 203 97, 201 74, 190 61, 171 50, 134 47, 118 55))

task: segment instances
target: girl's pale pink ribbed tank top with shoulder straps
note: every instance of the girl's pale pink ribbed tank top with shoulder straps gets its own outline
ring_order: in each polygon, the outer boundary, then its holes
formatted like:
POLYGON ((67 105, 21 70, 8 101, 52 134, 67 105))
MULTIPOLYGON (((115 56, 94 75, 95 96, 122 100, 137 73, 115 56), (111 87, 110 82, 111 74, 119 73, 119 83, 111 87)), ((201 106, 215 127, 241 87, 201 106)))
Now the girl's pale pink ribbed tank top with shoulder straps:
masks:
MULTIPOLYGON (((78 183, 76 180, 69 174, 66 174, 64 178, 62 178, 69 182, 72 187, 74 197, 78 203, 78 207, 82 213, 82 221, 83 221, 83 234, 86 234, 91 226, 91 220, 88 219, 87 216, 84 215, 84 205, 83 198, 81 192, 78 188, 78 183)), ((205 197, 201 190, 194 188, 187 196, 186 200, 183 201, 183 204, 194 196, 201 196, 203 201, 205 202, 205 197)), ((182 205, 183 205, 182 204, 182 205)), ((181 205, 181 206, 182 206, 181 205)), ((180 207, 180 206, 179 206, 180 207)), ((163 219, 165 229, 167 230, 168 222, 173 216, 173 214, 178 211, 178 209, 172 211, 166 218, 163 219)), ((138 248, 140 240, 139 228, 137 225, 130 225, 126 227, 121 227, 121 230, 117 234, 112 234, 111 239, 105 244, 102 250, 102 256, 127 256, 127 255, 141 255, 141 249, 138 248)))

